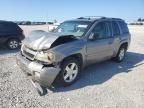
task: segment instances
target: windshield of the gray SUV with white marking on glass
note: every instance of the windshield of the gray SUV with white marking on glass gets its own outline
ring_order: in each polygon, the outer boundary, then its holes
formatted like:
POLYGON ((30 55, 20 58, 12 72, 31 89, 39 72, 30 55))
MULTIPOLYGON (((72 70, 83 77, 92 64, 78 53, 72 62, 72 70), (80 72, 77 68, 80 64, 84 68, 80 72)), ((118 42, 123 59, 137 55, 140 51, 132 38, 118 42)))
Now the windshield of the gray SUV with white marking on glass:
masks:
POLYGON ((81 37, 88 28, 89 23, 90 22, 84 21, 67 21, 61 23, 53 32, 69 34, 75 37, 81 37))

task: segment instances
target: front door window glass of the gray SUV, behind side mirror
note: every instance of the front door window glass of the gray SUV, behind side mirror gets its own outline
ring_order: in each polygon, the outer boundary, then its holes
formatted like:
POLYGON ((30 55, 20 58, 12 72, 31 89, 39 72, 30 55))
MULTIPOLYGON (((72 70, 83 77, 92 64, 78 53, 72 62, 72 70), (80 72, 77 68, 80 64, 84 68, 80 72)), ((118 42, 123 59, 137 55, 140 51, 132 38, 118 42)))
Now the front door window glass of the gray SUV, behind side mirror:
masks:
POLYGON ((97 39, 105 39, 108 37, 107 24, 105 22, 100 22, 96 24, 92 32, 97 36, 97 39))

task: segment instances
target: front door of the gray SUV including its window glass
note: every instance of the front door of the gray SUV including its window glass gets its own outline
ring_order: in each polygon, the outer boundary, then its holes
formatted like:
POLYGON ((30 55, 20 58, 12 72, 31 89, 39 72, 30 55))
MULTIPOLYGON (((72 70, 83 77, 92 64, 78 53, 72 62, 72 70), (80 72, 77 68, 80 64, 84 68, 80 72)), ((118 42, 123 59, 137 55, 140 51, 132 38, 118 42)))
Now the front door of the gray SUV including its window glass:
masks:
POLYGON ((93 28, 92 32, 98 37, 95 41, 87 42, 87 61, 88 63, 106 60, 113 55, 113 37, 111 22, 99 22, 93 28))

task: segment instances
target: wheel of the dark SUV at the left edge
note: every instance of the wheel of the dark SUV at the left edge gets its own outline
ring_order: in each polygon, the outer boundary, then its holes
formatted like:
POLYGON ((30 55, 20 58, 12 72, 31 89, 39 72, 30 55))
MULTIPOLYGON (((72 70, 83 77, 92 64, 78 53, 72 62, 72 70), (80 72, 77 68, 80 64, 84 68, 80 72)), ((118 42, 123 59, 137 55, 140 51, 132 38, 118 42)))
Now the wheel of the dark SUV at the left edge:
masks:
POLYGON ((18 39, 9 39, 7 42, 7 46, 11 50, 15 50, 19 48, 20 41, 18 39))

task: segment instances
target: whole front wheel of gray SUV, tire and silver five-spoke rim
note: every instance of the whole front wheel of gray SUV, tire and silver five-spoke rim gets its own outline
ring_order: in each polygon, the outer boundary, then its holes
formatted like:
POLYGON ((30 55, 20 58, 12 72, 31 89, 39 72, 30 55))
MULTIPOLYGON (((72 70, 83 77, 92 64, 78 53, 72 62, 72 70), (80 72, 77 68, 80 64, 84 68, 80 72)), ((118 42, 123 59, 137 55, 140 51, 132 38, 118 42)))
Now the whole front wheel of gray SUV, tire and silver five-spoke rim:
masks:
POLYGON ((56 82, 59 83, 58 85, 62 86, 71 85, 77 80, 80 73, 80 69, 81 66, 77 59, 71 57, 64 60, 61 66, 61 72, 58 75, 56 82))

